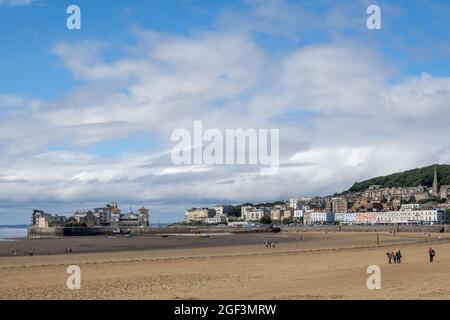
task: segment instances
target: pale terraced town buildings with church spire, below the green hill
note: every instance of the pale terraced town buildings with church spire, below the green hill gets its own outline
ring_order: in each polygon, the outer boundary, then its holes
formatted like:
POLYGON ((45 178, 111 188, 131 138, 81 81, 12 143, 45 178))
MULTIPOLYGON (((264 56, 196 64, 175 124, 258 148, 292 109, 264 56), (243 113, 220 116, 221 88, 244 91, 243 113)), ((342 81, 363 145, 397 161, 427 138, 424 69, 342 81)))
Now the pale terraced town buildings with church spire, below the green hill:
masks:
MULTIPOLYGON (((239 217, 248 223, 272 222, 284 224, 446 224, 450 210, 450 185, 439 188, 437 172, 432 187, 383 187, 371 185, 360 192, 346 192, 329 197, 292 197, 289 201, 273 205, 237 206, 239 217)), ((227 216, 220 208, 192 209, 186 211, 186 221, 197 223, 225 223, 227 216), (220 221, 220 222, 219 222, 220 221)), ((228 217, 230 218, 230 217, 228 217)))

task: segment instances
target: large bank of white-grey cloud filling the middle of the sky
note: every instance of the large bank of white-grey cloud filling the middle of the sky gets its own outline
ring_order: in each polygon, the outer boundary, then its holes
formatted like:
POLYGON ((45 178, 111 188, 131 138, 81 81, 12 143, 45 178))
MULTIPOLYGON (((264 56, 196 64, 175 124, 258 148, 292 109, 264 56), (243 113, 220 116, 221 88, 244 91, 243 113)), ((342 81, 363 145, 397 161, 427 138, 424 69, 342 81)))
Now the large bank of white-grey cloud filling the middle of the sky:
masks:
MULTIPOLYGON (((277 20, 280 10, 261 7, 255 15, 277 20)), ((112 62, 102 59, 107 44, 57 44, 55 54, 83 82, 60 100, 0 96, 8 106, 0 118, 0 201, 268 201, 331 194, 363 178, 450 161, 450 77, 393 81, 395 68, 351 41, 273 53, 235 30, 137 34, 129 54, 112 62), (279 174, 173 166, 170 134, 194 120, 222 130, 279 128, 279 174), (137 132, 157 146, 110 158, 48 150, 137 132)))

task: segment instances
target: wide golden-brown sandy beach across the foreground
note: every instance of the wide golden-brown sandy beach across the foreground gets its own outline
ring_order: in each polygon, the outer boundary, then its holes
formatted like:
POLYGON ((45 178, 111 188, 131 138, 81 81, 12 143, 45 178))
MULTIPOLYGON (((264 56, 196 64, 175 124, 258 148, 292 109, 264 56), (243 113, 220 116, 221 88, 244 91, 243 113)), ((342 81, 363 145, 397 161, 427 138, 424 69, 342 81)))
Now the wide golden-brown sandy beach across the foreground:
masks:
MULTIPOLYGON (((161 239, 172 243, 169 249, 155 245, 156 249, 138 250, 138 246, 120 251, 117 243, 107 247, 103 239, 91 238, 85 253, 0 257, 0 299, 450 299, 447 234, 427 238, 419 233, 395 237, 381 233, 380 247, 375 233, 169 236, 135 241, 152 247, 152 241, 160 244, 161 239), (266 248, 258 244, 263 239, 278 244, 266 248), (192 241, 202 242, 191 247, 192 241), (437 253, 433 263, 428 262, 430 245, 437 253), (397 248, 402 250, 402 264, 390 265, 386 252, 397 248), (81 268, 80 290, 66 288, 66 268, 73 264, 81 268), (381 268, 380 290, 367 289, 370 265, 381 268)), ((46 240, 47 251, 59 248, 58 240, 46 240)), ((20 245, 30 243, 43 242, 20 245)))

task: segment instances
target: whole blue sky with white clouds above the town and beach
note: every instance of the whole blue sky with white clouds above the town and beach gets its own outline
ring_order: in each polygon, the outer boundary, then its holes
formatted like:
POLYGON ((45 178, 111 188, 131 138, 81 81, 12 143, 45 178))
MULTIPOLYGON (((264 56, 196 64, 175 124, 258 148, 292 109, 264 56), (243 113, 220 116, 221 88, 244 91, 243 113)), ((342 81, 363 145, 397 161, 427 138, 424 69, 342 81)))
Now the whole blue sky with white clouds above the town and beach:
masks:
POLYGON ((0 224, 117 201, 329 195, 450 163, 450 1, 0 0, 0 224), (369 5, 381 29, 369 30, 369 5), (66 9, 81 9, 69 30, 66 9), (174 130, 279 129, 280 169, 175 165, 174 130))

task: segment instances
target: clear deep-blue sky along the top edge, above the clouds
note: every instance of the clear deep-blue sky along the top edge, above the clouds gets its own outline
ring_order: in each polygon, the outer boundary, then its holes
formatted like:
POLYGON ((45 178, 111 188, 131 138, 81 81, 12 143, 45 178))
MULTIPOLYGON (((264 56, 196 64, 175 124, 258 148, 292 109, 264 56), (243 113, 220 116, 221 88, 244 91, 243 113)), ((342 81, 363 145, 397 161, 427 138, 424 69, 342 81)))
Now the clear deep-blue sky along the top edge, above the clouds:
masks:
MULTIPOLYGON (((302 3, 302 1, 291 1, 302 3)), ((303 1, 303 3, 308 3, 303 1)), ((344 3, 344 2, 342 2, 344 3)), ((345 5, 348 5, 347 2, 345 5)), ((355 37, 368 46, 381 46, 383 53, 398 63, 402 74, 429 72, 445 75, 449 71, 448 30, 450 19, 448 1, 387 1, 388 12, 382 11, 384 30, 370 32, 365 29, 365 4, 353 1, 351 10, 359 11, 360 25, 340 30, 338 36, 355 37), (390 12, 394 11, 394 12, 390 12), (398 11, 398 12, 397 12, 398 11), (398 47, 393 47, 396 44, 398 47), (446 51, 435 50, 441 46, 446 51)), ((383 2, 379 3, 383 8, 383 2)), ((332 8, 331 1, 309 2, 308 7, 320 16, 332 8)), ((117 47, 135 41, 132 30, 136 27, 174 34, 186 34, 196 30, 218 28, 215 19, 227 10, 245 14, 249 7, 243 1, 35 1, 26 6, 6 6, 0 10, 0 37, 4 50, 0 52, 0 87, 7 92, 43 99, 61 97, 79 85, 61 62, 55 59, 52 45, 62 40, 85 41, 101 39, 117 47), (82 9, 83 28, 69 31, 65 28, 68 5, 77 4, 82 9), (6 76, 7 75, 7 76, 6 76), (45 76, 46 81, 42 81, 45 76)), ((358 17, 356 17, 358 19, 358 17)), ((254 34, 262 45, 272 50, 316 43, 328 37, 326 30, 315 30, 301 23, 299 17, 296 33, 306 34, 304 41, 286 41, 282 37, 254 34)), ((329 30, 330 32, 332 30, 329 30)), ((114 48, 104 58, 120 56, 114 48)))

